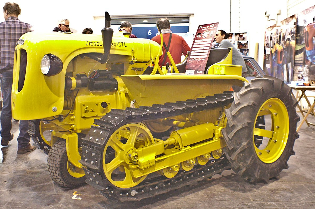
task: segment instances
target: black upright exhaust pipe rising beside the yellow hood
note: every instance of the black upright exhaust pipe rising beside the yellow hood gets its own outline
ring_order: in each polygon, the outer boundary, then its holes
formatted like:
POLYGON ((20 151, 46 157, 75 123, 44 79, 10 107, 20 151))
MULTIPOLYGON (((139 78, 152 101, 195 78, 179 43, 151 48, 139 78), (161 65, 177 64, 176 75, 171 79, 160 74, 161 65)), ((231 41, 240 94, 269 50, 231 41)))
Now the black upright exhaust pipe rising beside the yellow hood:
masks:
POLYGON ((102 64, 108 60, 109 53, 111 51, 112 39, 114 30, 111 27, 111 16, 108 12, 105 12, 105 28, 102 29, 104 54, 98 57, 98 61, 102 64))

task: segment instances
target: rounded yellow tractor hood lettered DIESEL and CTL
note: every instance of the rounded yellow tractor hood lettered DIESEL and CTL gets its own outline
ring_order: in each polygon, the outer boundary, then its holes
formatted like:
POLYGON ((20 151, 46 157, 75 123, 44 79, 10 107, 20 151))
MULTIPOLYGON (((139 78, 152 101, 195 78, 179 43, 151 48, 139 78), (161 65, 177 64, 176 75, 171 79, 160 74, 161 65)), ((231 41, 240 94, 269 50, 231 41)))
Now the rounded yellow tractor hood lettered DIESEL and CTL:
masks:
MULTIPOLYGON (((134 41, 114 35, 110 55, 123 55, 123 62, 131 59, 149 62, 159 53, 160 45, 152 40, 134 41)), ((101 35, 56 32, 29 32, 22 35, 14 53, 13 118, 33 120, 59 115, 64 106, 65 77, 69 63, 83 53, 104 53, 102 45, 101 35), (41 72, 41 60, 46 54, 53 54, 62 61, 63 69, 57 75, 48 77, 41 72)))

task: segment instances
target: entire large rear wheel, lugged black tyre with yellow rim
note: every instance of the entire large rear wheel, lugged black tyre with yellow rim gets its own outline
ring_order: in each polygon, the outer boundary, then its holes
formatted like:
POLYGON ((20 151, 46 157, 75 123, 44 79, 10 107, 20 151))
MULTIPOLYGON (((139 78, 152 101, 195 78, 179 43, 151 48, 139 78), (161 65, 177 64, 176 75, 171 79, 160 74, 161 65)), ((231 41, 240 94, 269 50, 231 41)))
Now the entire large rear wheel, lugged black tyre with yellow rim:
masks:
POLYGON ((296 105, 291 88, 272 76, 255 78, 234 93, 222 131, 226 158, 234 172, 251 182, 268 182, 288 168, 287 161, 295 154, 293 145, 299 137, 296 105), (256 124, 261 116, 265 119, 263 128, 256 124), (262 138, 260 145, 255 143, 257 136, 262 138))

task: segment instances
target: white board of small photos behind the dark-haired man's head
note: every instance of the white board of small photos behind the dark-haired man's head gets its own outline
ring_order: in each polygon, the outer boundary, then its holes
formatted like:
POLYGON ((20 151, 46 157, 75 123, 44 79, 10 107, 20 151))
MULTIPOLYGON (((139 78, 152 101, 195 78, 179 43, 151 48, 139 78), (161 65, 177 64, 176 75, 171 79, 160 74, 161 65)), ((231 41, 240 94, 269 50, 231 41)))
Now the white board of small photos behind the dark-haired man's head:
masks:
MULTIPOLYGON (((248 45, 248 33, 226 33, 229 37, 227 40, 229 40, 235 48, 238 49, 238 51, 244 55, 249 55, 249 45, 248 45)), ((213 41, 211 49, 218 48, 219 44, 213 41)))

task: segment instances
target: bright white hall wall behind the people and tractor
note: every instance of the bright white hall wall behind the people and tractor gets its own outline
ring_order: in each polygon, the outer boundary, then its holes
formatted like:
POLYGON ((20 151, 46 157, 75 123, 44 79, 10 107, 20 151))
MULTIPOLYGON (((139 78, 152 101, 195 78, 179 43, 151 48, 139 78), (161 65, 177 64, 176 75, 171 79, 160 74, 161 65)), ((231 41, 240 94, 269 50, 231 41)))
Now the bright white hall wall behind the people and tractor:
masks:
MULTIPOLYGON (((0 0, 3 7, 7 0, 0 0)), ((249 33, 249 55, 254 56, 255 43, 259 43, 259 64, 263 64, 264 31, 265 28, 275 24, 275 21, 267 22, 265 11, 269 11, 271 17, 277 16, 281 10, 278 21, 288 17, 288 0, 220 0, 220 1, 100 1, 88 0, 84 3, 77 0, 15 0, 22 10, 19 19, 30 23, 35 31, 50 32, 55 27, 58 19, 70 19, 70 27, 80 33, 84 28, 92 28, 95 34, 100 34, 104 25, 95 21, 93 16, 104 15, 105 11, 110 15, 129 14, 174 14, 193 13, 190 21, 190 31, 194 33, 198 25, 219 22, 219 29, 231 32, 249 33), (231 5, 231 7, 230 7, 231 5), (230 12, 231 8, 231 12, 230 12), (97 25, 97 26, 96 26, 97 25)), ((314 5, 311 0, 289 0, 289 11, 295 13, 314 5), (292 6, 293 5, 293 6, 292 6)), ((0 18, 1 20, 1 18, 0 18)), ((4 19, 2 19, 4 20, 4 19)))

